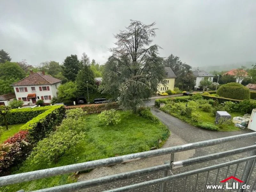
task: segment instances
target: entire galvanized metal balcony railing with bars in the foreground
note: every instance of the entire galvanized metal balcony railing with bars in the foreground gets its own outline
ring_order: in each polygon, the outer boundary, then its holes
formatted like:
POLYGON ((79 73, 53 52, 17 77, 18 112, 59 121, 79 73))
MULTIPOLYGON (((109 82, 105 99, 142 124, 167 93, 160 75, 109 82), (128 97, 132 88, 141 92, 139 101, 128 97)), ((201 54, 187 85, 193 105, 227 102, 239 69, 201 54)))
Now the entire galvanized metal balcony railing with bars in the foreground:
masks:
MULTIPOLYGON (((228 167, 228 170, 229 170, 229 167, 231 165, 236 164, 237 165, 236 171, 237 171, 239 164, 242 162, 246 162, 246 164, 244 166, 244 171, 243 171, 241 179, 244 181, 244 183, 247 183, 251 177, 253 168, 255 166, 256 145, 246 146, 246 147, 242 147, 242 148, 237 148, 237 149, 214 153, 214 154, 205 155, 205 156, 194 157, 194 158, 190 158, 190 159, 186 159, 186 160, 182 160, 182 161, 174 162, 173 160, 174 160, 174 153, 176 153, 176 152, 187 151, 187 150, 196 149, 196 148, 203 148, 203 147, 213 146, 213 145, 217 145, 217 144, 221 144, 221 143, 225 143, 225 142, 230 142, 230 141, 235 141, 235 140, 243 140, 243 139, 248 139, 248 138, 253 138, 253 137, 256 137, 256 132, 240 134, 240 135, 235 135, 235 136, 229 136, 229 137, 224 137, 224 138, 219 138, 219 139, 200 141, 200 142, 189 143, 189 144, 180 145, 180 146, 156 149, 156 150, 152 150, 152 151, 129 154, 129 155, 124 155, 124 156, 111 157, 111 158, 106 158, 106 159, 89 161, 89 162, 85 162, 85 163, 71 164, 71 165, 66 165, 66 166, 38 170, 38 171, 19 173, 19 174, 15 174, 15 175, 8 175, 8 176, 0 177, 0 186, 16 184, 16 183, 21 183, 21 182, 31 181, 31 180, 38 180, 38 179, 43 179, 46 177, 51 177, 51 176, 56 176, 56 175, 61 175, 61 174, 66 174, 66 173, 73 173, 73 172, 78 172, 78 171, 84 171, 84 170, 88 170, 88 169, 94 169, 94 168, 104 167, 104 166, 109 166, 109 165, 121 164, 121 163, 135 161, 135 160, 139 160, 139 159, 143 159, 143 158, 162 156, 162 155, 167 155, 167 154, 171 154, 170 161, 165 162, 165 164, 163 164, 163 165, 157 165, 157 166, 148 167, 145 169, 139 169, 139 170, 130 171, 130 172, 118 173, 118 174, 114 174, 114 175, 110 175, 110 176, 80 181, 80 182, 61 185, 61 186, 52 187, 52 188, 45 188, 45 189, 37 190, 37 192, 75 191, 75 190, 79 190, 79 189, 98 186, 98 185, 106 184, 106 183, 117 181, 117 180, 125 180, 125 179, 129 179, 129 178, 133 178, 135 176, 145 175, 148 173, 159 172, 159 171, 163 171, 162 178, 108 190, 108 192, 134 190, 134 189, 138 189, 138 188, 151 186, 154 184, 160 184, 160 191, 164 192, 164 191, 166 191, 167 181, 174 181, 174 180, 177 180, 180 178, 185 178, 185 182, 184 182, 184 189, 185 189, 187 177, 190 175, 196 175, 195 188, 194 188, 194 191, 196 191, 198 174, 207 172, 207 177, 206 177, 206 181, 205 181, 207 183, 209 172, 211 170, 217 170, 217 176, 216 176, 216 180, 215 180, 215 183, 216 183, 220 168, 228 167), (210 160, 219 159, 219 158, 222 158, 225 156, 232 156, 232 155, 236 155, 236 154, 248 152, 248 151, 253 151, 254 154, 252 156, 236 159, 233 161, 229 161, 229 162, 225 162, 225 163, 221 163, 221 164, 217 164, 217 165, 207 166, 204 168, 167 176, 168 170, 172 170, 172 169, 176 169, 179 167, 184 167, 184 166, 188 166, 188 165, 192 165, 192 164, 208 162, 210 160)), ((236 171, 235 171, 234 175, 236 175, 236 171)), ((228 174, 228 171, 227 171, 227 174, 228 174)), ((206 183, 205 183, 205 186, 206 186, 206 183)), ((256 180, 253 183, 252 189, 254 188, 255 183, 256 183, 256 180)), ((173 191, 174 187, 175 186, 172 186, 172 191, 173 191)), ((205 190, 205 188, 204 188, 204 190, 205 190)), ((20 191, 23 191, 23 190, 20 190, 20 191)), ((242 190, 239 189, 238 191, 241 192, 242 190)))

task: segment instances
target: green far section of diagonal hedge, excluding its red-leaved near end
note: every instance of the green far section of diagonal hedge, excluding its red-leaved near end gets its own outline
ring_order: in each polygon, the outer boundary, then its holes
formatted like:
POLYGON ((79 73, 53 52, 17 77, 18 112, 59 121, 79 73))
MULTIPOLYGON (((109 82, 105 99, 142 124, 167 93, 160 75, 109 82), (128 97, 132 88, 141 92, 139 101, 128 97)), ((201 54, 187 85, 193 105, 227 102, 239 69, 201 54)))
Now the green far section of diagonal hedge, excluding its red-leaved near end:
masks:
POLYGON ((64 115, 63 105, 51 106, 50 109, 28 121, 20 129, 28 131, 28 140, 35 143, 53 131, 53 127, 61 123, 64 115))

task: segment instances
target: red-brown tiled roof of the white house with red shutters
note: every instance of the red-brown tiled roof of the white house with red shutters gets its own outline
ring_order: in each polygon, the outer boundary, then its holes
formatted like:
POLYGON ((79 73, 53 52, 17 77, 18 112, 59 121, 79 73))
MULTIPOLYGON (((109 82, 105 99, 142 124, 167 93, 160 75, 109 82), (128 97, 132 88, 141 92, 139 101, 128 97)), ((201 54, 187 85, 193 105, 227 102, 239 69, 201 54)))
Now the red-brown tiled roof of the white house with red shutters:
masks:
POLYGON ((20 81, 11 84, 11 86, 22 86, 22 85, 49 85, 61 82, 60 79, 54 78, 49 75, 43 75, 42 73, 36 72, 30 76, 21 79, 20 81))

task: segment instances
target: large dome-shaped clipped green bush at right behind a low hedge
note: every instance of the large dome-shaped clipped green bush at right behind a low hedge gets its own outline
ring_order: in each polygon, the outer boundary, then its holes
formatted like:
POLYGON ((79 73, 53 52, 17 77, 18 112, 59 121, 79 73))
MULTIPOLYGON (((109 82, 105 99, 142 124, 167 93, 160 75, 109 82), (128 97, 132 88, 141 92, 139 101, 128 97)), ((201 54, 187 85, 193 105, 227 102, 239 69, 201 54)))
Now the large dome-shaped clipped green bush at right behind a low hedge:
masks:
POLYGON ((224 84, 217 90, 217 94, 231 99, 250 99, 250 90, 239 83, 224 84))

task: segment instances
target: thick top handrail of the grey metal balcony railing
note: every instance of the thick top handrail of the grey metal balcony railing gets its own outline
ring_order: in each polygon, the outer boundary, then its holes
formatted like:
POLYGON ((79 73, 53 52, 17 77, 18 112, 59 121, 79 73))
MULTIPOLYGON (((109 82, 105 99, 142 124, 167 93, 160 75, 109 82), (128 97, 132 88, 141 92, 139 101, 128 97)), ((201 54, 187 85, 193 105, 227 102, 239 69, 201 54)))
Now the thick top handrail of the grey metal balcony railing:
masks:
POLYGON ((180 151, 186 151, 186 150, 191 150, 191 149, 196 149, 201 147, 208 147, 208 146, 217 145, 217 144, 221 144, 229 141, 248 139, 252 137, 256 137, 256 132, 245 133, 245 134, 234 135, 234 136, 223 137, 223 138, 212 139, 212 140, 199 141, 195 143, 189 143, 189 144, 184 144, 180 146, 173 146, 169 148, 156 149, 152 151, 145 151, 145 152, 134 153, 129 155, 110 157, 110 158, 99 159, 99 160, 94 160, 94 161, 89 161, 84 163, 71 164, 71 165, 42 169, 42 170, 37 170, 32 172, 8 175, 8 176, 0 177, 0 186, 42 179, 45 177, 51 177, 51 176, 56 176, 60 174, 84 171, 88 169, 94 169, 97 167, 104 167, 104 166, 109 166, 114 164, 126 163, 131 160, 166 155, 166 154, 176 153, 180 151))

